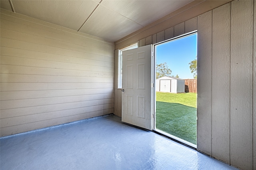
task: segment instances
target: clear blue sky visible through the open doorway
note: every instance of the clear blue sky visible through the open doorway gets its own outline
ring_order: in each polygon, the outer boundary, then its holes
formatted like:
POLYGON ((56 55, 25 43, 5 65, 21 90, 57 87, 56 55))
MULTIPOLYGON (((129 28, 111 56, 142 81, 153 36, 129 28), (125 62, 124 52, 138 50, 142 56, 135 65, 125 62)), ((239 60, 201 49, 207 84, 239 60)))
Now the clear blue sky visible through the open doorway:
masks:
POLYGON ((197 56, 197 34, 156 46, 156 64, 166 62, 172 75, 181 79, 193 79, 190 61, 197 56))

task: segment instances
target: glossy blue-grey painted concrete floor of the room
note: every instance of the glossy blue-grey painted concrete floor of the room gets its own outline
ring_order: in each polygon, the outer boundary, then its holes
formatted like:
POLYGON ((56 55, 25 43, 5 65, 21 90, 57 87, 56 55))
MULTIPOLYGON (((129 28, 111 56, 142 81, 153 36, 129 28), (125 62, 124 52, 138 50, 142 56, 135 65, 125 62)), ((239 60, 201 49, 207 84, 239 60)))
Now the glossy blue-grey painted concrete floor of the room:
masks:
POLYGON ((1 170, 234 170, 114 115, 0 140, 1 170))

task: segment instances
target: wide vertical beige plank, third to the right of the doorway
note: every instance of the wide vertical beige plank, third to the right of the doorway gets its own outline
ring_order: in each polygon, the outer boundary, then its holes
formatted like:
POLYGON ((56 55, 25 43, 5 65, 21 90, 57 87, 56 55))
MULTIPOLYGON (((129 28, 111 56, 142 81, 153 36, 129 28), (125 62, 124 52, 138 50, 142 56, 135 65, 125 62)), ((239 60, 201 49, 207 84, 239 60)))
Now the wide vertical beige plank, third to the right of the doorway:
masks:
POLYGON ((253 1, 232 1, 230 38, 230 162, 252 169, 253 1))

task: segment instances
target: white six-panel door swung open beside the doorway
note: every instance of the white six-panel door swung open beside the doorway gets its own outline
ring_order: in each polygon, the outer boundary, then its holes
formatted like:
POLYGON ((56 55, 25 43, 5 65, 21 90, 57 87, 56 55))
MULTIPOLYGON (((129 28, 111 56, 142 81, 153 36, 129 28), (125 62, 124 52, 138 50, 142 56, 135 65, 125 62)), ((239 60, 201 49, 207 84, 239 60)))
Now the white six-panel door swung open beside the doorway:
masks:
POLYGON ((152 45, 122 52, 122 122, 152 130, 152 45))

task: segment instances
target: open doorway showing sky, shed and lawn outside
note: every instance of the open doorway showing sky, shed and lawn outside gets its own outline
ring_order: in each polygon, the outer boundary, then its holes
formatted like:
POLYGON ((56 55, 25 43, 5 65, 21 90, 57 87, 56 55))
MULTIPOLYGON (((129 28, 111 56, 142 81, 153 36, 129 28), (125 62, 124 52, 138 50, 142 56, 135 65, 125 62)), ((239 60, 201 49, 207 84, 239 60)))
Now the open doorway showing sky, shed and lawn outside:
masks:
POLYGON ((155 45, 155 131, 196 148, 197 32, 155 45))

